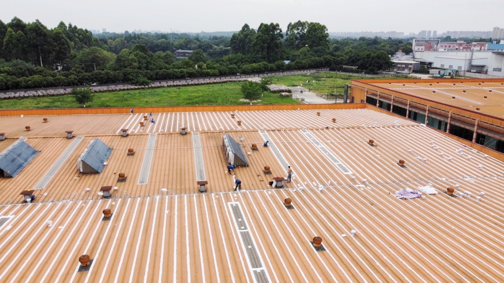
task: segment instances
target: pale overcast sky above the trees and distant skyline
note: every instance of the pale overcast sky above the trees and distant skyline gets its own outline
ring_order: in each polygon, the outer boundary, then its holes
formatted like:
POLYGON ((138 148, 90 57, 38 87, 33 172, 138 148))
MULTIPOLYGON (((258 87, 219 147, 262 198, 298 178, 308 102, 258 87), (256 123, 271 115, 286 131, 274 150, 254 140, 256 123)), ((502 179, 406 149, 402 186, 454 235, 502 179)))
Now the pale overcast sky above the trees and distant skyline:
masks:
POLYGON ((88 30, 237 31, 244 23, 320 22, 329 32, 504 28, 503 0, 0 0, 0 20, 60 21, 88 30))

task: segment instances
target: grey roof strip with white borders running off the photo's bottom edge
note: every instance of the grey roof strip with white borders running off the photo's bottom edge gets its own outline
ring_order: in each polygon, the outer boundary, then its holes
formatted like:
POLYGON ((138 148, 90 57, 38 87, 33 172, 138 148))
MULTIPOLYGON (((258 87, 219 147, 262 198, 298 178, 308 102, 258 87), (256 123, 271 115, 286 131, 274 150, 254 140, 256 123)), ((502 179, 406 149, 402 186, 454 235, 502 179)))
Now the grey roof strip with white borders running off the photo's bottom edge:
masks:
POLYGON ((250 234, 250 228, 248 227, 243 214, 241 213, 241 206, 239 202, 228 202, 229 209, 233 214, 234 223, 236 224, 236 229, 240 235, 241 244, 243 246, 244 252, 247 254, 247 261, 250 266, 252 273, 256 277, 256 282, 268 283, 268 274, 266 268, 263 265, 263 260, 257 251, 257 246, 250 234))

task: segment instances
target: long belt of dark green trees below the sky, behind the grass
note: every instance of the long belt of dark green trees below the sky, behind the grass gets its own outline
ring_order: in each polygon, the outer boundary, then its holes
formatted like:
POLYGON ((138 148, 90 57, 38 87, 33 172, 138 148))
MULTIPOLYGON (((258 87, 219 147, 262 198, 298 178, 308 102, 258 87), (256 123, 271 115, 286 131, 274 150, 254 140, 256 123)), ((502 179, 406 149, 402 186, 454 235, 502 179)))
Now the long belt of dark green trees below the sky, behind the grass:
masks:
POLYGON ((376 73, 391 65, 401 40, 329 39, 326 26, 297 21, 282 32, 278 24, 245 24, 232 37, 188 34, 97 36, 60 22, 48 29, 40 21, 15 17, 0 21, 0 90, 107 83, 146 85, 153 80, 357 66, 376 73), (194 50, 175 59, 177 49, 194 50), (290 62, 289 62, 290 61, 290 62), (286 63, 288 62, 288 63, 286 63))

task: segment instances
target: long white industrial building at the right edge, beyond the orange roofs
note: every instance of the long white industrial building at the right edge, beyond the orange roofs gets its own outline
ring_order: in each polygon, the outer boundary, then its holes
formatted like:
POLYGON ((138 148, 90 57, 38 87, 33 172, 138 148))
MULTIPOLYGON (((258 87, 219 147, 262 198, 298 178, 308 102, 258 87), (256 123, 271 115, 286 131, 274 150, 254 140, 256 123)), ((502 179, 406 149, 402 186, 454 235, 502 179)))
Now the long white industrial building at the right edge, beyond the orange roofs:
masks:
POLYGON ((465 71, 504 77, 504 51, 425 51, 415 52, 414 60, 434 68, 460 70, 461 75, 465 71))

